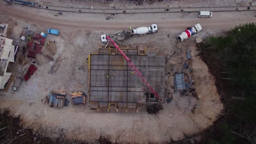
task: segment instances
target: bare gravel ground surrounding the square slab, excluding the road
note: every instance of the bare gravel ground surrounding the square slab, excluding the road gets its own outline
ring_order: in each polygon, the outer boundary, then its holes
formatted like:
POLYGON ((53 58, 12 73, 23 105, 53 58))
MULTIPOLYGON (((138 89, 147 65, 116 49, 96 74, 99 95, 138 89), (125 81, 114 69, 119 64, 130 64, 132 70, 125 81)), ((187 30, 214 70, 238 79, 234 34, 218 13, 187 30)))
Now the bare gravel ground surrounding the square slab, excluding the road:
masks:
MULTIPOLYGON (((8 18, 8 17, 7 17, 8 18)), ((16 20, 11 20, 16 21, 16 20)), ((12 37, 19 42, 20 27, 28 26, 35 31, 44 27, 32 25, 22 21, 16 21, 12 37)), ((99 136, 108 136, 112 142, 138 142, 162 143, 170 139, 182 139, 184 134, 196 133, 211 125, 222 110, 214 79, 207 71, 206 65, 197 57, 193 38, 185 41, 182 46, 176 44, 175 34, 171 31, 159 32, 139 38, 131 38, 124 41, 127 45, 150 45, 159 47, 159 53, 170 56, 177 51, 166 65, 174 64, 174 70, 182 70, 186 60, 184 46, 191 49, 193 54, 192 67, 194 69, 198 98, 188 94, 174 93, 170 104, 163 104, 164 110, 158 115, 148 115, 143 106, 138 113, 135 111, 94 111, 93 105, 74 106, 70 104, 62 109, 49 107, 42 103, 45 95, 53 90, 63 90, 67 93, 73 91, 85 91, 88 89, 88 64, 86 59, 89 53, 96 52, 96 47, 102 46, 98 36, 99 31, 61 31, 56 37, 48 35, 48 39, 55 41, 57 50, 50 61, 45 55, 50 55, 48 49, 44 49, 42 55, 38 55, 36 65, 38 70, 27 82, 22 82, 18 92, 4 93, 0 101, 1 108, 8 108, 14 116, 21 115, 22 124, 25 127, 41 131, 50 137, 58 137, 60 131, 67 139, 77 139, 93 142, 99 136), (167 37, 169 35, 169 38, 167 37), (88 39, 85 39, 85 35, 88 39), (155 39, 152 41, 152 39, 155 39), (148 42, 149 41, 149 42, 148 42), (193 45, 191 45, 191 43, 193 45), (54 67, 51 74, 49 71, 54 67), (203 71, 203 73, 202 73, 203 71), (203 76, 203 77, 202 77, 203 76), (207 89, 206 84, 207 83, 207 89), (7 96, 8 95, 8 96, 7 96), (208 107, 211 107, 209 109, 208 107), (194 109, 194 110, 193 110, 194 109)), ((202 32, 201 34, 206 34, 202 32)), ((29 64, 29 63, 28 63, 29 64)), ((18 71, 28 67, 15 64, 18 71)), ((170 70, 171 73, 174 72, 170 70)), ((166 71, 167 73, 167 71, 166 71)), ((191 75, 191 76, 193 76, 191 75)), ((168 77, 168 76, 167 76, 168 77)), ((168 86, 173 86, 173 79, 167 80, 168 86)), ((170 87, 167 91, 173 91, 170 87)), ((68 96, 71 100, 71 97, 68 96)))

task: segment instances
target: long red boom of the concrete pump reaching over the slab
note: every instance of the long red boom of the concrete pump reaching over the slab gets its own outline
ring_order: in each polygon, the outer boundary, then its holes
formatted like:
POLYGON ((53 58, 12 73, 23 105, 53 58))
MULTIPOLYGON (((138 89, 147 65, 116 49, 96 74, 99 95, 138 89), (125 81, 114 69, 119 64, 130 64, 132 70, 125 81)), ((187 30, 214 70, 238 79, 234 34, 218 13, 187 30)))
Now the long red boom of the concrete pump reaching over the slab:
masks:
MULTIPOLYGON (((147 85, 148 88, 150 89, 150 91, 152 91, 154 94, 155 94, 155 97, 157 99, 159 99, 159 95, 154 91, 154 89, 149 85, 148 81, 142 76, 141 73, 139 73, 138 69, 135 67, 135 65, 131 62, 131 60, 129 59, 129 57, 127 57, 125 55, 125 53, 119 48, 119 46, 115 43, 114 40, 112 40, 108 35, 107 35, 107 40, 110 41, 114 46, 115 48, 117 48, 117 50, 124 56, 124 58, 126 59, 127 61, 127 64, 129 65, 129 67, 131 68, 131 70, 133 71, 133 73, 136 74, 136 76, 138 77, 139 80, 141 80, 141 82, 144 84, 144 85, 147 85)), ((161 99, 159 99, 161 100, 161 99)))

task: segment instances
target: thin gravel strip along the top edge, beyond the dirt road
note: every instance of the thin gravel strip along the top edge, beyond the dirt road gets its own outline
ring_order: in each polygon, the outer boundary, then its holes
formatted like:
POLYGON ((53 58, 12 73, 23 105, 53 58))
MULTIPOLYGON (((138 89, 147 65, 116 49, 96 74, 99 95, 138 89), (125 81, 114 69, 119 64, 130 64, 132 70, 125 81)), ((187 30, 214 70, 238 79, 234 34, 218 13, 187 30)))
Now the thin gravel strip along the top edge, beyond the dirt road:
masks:
MULTIPOLYGON (((244 4, 254 0, 247 0, 244 4)), ((102 1, 102 0, 34 0, 34 2, 45 5, 55 5, 59 7, 72 7, 76 8, 98 8, 98 9, 134 9, 134 8, 186 8, 186 7, 224 7, 224 6, 236 6, 234 0, 168 0, 168 1, 102 1)))

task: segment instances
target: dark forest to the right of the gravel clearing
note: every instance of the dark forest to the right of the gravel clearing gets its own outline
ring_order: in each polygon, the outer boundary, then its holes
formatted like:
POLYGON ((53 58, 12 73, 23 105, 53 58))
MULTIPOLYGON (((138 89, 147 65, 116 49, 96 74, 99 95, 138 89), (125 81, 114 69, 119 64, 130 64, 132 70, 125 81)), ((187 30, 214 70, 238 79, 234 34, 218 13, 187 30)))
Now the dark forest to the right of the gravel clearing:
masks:
POLYGON ((256 143, 256 25, 240 25, 224 35, 197 45, 225 106, 201 143, 256 143))

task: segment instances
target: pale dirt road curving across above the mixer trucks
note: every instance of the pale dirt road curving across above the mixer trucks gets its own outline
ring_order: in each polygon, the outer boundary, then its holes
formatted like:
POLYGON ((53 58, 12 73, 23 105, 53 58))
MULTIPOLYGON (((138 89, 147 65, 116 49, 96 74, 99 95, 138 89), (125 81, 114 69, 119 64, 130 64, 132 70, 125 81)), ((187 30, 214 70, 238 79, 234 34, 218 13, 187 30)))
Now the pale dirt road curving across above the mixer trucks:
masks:
POLYGON ((196 13, 190 14, 189 17, 185 16, 182 19, 178 17, 181 14, 176 13, 150 14, 152 15, 152 17, 149 15, 150 18, 148 16, 144 16, 145 14, 132 14, 119 15, 117 19, 115 18, 111 21, 104 19, 106 17, 104 14, 95 14, 92 17, 89 14, 77 14, 79 15, 77 17, 54 17, 54 13, 56 12, 30 7, 22 9, 19 5, 0 4, 0 14, 2 15, 8 15, 21 21, 31 22, 36 25, 59 29, 80 29, 88 31, 101 31, 102 29, 108 29, 111 31, 130 26, 147 26, 149 23, 155 22, 158 24, 160 30, 181 31, 182 29, 190 26, 190 23, 191 25, 194 25, 194 23, 201 23, 206 30, 211 30, 216 28, 225 29, 234 27, 241 23, 256 22, 256 18, 253 17, 254 11, 214 13, 214 16, 211 19, 199 19, 196 17, 196 13), (99 19, 101 17, 102 19, 99 19))

